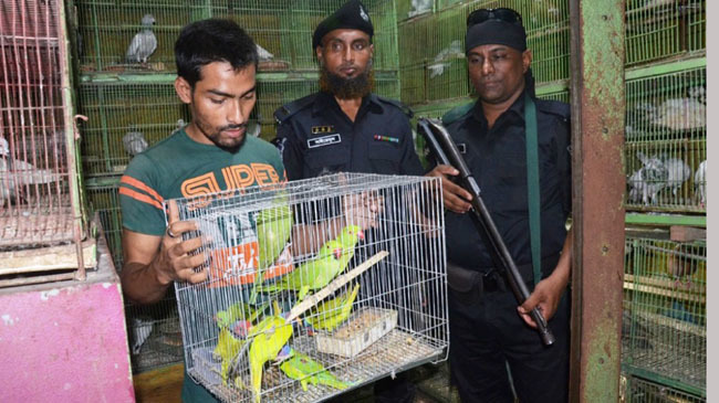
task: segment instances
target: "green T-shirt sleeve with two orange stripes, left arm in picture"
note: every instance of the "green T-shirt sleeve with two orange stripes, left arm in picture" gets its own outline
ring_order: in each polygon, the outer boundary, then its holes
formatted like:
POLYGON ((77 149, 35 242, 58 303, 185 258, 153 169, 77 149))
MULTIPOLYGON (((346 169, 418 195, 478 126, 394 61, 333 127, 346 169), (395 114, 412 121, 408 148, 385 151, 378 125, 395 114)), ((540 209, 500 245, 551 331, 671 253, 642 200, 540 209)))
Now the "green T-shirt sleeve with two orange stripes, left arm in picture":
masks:
POLYGON ((119 180, 119 205, 123 227, 140 234, 165 233, 163 197, 152 180, 153 167, 143 155, 136 156, 119 180))

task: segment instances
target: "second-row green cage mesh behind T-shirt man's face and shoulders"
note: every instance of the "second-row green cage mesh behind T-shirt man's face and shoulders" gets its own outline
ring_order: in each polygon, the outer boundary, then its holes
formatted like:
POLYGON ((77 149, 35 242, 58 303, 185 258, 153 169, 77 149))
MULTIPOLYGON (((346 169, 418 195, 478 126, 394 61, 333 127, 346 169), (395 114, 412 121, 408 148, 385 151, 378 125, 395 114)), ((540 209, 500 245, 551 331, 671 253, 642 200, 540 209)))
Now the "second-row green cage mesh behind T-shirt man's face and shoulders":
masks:
MULTIPOLYGON (((82 157, 87 176, 122 174, 132 157, 168 137, 190 121, 188 108, 173 85, 174 77, 156 82, 83 83, 80 110, 83 125, 82 157)), ((395 74, 378 74, 377 94, 397 98, 395 74)), ((317 79, 258 77, 258 100, 248 132, 265 140, 275 137, 274 110, 319 89, 317 79)))

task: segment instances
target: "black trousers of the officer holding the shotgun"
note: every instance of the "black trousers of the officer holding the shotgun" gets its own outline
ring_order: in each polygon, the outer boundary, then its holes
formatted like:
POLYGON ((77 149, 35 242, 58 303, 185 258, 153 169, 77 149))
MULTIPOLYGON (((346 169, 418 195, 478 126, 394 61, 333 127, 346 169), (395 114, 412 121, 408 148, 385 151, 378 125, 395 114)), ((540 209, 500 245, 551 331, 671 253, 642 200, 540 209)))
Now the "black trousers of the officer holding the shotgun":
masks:
POLYGON ((449 288, 449 362, 463 403, 513 402, 506 362, 521 403, 567 400, 569 293, 565 291, 550 328, 556 337, 544 347, 536 330, 517 314, 510 290, 480 295, 449 288))

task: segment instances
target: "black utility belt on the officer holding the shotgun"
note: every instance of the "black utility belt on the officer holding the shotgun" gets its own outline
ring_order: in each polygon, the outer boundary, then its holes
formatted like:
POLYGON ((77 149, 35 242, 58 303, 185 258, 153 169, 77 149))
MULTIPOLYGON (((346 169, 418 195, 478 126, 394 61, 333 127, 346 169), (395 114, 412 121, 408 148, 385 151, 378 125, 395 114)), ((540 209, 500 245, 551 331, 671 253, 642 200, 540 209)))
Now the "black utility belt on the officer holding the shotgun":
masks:
MULTIPOLYGON (((554 254, 542 259, 542 267, 555 266, 559 262, 560 254, 554 254)), ((529 273, 524 283, 529 289, 533 289, 532 264, 517 266, 521 274, 529 273)), ((459 293, 469 293, 475 287, 479 287, 482 293, 510 291, 504 269, 488 268, 466 268, 447 262, 447 284, 451 289, 459 293)))

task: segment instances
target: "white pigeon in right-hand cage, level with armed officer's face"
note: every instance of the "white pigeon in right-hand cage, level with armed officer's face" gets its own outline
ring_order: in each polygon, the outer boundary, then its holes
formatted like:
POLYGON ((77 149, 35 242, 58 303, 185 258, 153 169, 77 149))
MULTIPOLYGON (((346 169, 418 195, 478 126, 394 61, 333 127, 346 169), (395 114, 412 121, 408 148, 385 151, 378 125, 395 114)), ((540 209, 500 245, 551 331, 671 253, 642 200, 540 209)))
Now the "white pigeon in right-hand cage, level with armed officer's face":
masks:
POLYGON ((670 130, 692 130, 707 126, 706 89, 688 89, 684 98, 668 98, 657 107, 653 124, 670 130))

